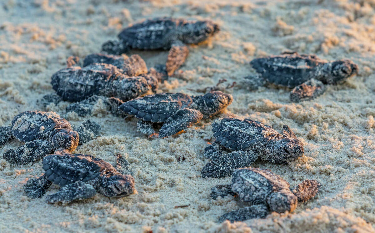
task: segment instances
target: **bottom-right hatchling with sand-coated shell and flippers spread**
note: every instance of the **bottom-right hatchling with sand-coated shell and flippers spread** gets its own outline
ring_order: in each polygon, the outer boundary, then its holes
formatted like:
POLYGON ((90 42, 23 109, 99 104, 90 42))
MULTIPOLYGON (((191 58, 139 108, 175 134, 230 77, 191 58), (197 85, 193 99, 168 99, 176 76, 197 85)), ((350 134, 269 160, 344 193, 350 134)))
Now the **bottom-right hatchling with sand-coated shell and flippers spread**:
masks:
POLYGON ((320 183, 317 180, 304 180, 290 189, 289 183, 282 177, 263 168, 242 168, 232 174, 232 183, 211 188, 211 197, 237 196, 249 205, 225 213, 219 221, 245 221, 251 218, 266 218, 272 212, 293 212, 297 203, 305 202, 318 193, 320 183))

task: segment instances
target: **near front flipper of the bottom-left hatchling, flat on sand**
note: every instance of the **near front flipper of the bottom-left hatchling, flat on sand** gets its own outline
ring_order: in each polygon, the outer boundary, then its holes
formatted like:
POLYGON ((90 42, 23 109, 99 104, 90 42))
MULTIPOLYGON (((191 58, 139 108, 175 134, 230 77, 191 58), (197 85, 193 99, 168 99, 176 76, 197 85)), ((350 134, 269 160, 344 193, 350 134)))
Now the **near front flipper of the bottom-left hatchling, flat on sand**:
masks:
POLYGON ((54 194, 47 196, 48 203, 69 203, 74 200, 83 200, 95 196, 95 188, 82 181, 77 181, 70 185, 65 185, 54 194))

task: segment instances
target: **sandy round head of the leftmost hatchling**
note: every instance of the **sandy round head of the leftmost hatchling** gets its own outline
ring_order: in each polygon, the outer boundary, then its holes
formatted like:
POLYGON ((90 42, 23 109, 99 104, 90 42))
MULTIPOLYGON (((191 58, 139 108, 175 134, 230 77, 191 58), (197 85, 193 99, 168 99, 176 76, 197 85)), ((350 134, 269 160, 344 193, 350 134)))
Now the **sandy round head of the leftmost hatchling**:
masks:
POLYGON ((61 129, 52 137, 54 148, 61 153, 73 152, 78 146, 78 141, 80 141, 78 132, 68 129, 61 129))

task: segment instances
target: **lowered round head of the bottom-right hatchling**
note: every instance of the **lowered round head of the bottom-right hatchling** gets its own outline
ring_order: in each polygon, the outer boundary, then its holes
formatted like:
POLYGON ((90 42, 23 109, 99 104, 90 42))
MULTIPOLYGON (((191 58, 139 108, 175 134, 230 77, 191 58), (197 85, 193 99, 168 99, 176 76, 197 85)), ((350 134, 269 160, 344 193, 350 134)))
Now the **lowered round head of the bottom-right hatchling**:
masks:
POLYGON ((282 189, 279 192, 272 192, 267 197, 267 203, 271 211, 284 213, 293 212, 297 207, 297 197, 289 189, 282 189))

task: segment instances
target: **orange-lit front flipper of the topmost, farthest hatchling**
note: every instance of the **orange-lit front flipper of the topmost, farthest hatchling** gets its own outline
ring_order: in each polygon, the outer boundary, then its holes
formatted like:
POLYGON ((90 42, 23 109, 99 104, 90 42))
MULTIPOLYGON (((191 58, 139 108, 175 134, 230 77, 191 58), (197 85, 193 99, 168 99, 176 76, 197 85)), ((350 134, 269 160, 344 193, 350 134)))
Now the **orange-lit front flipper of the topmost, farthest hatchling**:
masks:
POLYGON ((176 41, 172 44, 165 63, 168 76, 171 76, 185 62, 187 55, 189 55, 189 49, 183 42, 176 41))

